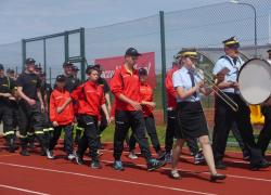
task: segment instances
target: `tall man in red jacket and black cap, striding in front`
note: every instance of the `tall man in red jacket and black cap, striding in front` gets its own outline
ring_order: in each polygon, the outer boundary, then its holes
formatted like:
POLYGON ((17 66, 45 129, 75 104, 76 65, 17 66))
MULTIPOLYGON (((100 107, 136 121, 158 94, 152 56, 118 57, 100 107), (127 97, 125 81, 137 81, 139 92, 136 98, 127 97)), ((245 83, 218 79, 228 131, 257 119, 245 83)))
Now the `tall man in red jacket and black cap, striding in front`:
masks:
POLYGON ((114 169, 124 170, 120 160, 124 141, 131 127, 141 153, 146 159, 147 170, 155 170, 165 164, 152 157, 145 136, 145 122, 140 104, 140 81, 138 70, 133 68, 141 54, 129 48, 125 54, 125 64, 116 69, 111 80, 111 91, 115 95, 115 134, 114 134, 114 169))

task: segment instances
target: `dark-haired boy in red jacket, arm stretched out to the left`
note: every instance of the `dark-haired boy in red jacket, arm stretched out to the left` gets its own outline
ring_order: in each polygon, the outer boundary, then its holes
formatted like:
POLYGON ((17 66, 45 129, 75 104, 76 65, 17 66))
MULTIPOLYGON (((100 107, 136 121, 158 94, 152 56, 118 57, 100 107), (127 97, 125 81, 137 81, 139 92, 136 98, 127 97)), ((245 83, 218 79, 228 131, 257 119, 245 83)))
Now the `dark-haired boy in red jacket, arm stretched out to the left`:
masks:
MULTIPOLYGON (((109 115, 106 109, 105 99, 103 88, 98 84, 99 69, 94 66, 88 66, 86 70, 89 76, 88 81, 79 86, 72 93, 72 99, 78 101, 83 96, 83 102, 80 102, 78 106, 78 123, 83 127, 83 135, 79 140, 78 150, 76 152, 76 161, 79 165, 83 164, 83 153, 86 151, 86 144, 90 148, 91 164, 90 167, 93 169, 100 169, 101 164, 98 158, 98 144, 100 132, 98 129, 98 118, 103 109, 107 121, 109 122, 109 115)), ((72 101, 69 99, 63 106, 59 107, 59 112, 62 112, 63 108, 72 101)))

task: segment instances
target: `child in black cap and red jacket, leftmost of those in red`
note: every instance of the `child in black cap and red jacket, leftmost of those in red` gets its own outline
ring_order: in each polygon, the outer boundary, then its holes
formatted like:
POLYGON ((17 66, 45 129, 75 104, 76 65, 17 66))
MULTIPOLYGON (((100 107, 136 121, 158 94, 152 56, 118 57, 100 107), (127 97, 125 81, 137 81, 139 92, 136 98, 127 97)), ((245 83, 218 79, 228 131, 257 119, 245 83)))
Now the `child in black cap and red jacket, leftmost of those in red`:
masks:
POLYGON ((54 146, 57 144, 62 130, 64 130, 64 143, 67 159, 73 160, 75 158, 73 153, 73 122, 75 119, 73 103, 70 102, 60 114, 56 110, 57 107, 62 106, 68 99, 70 99, 70 93, 65 90, 65 81, 66 77, 64 75, 59 75, 56 77, 56 88, 50 96, 50 120, 53 123, 54 131, 53 136, 50 139, 49 150, 51 158, 54 158, 54 146))

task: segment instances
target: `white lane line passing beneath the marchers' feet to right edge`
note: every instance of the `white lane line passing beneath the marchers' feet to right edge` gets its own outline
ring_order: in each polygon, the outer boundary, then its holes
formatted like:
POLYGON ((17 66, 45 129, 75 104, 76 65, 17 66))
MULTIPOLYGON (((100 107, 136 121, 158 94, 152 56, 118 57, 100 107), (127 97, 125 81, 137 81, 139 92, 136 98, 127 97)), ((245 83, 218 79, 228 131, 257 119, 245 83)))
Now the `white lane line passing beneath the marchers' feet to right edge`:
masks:
MULTIPOLYGON (((104 152, 112 152, 109 150, 103 150, 104 152)), ((90 158, 87 158, 87 159, 90 159, 90 158)), ((111 160, 101 160, 101 161, 104 161, 104 162, 107 162, 107 164, 113 164, 114 161, 111 161, 111 160)), ((134 166, 139 166, 139 167, 146 167, 145 165, 141 165, 141 164, 132 164, 134 166)), ((165 167, 162 167, 160 169, 164 169, 164 170, 171 170, 170 168, 165 168, 165 167)), ((197 171, 193 171, 193 170, 184 170, 184 169, 178 169, 179 171, 183 171, 183 172, 190 172, 190 173, 193 173, 193 174, 197 174, 198 172, 197 171)), ((204 173, 204 174, 209 174, 209 172, 202 172, 201 173, 204 173)), ((227 174, 227 177, 229 178, 238 178, 238 179, 246 179, 246 180, 254 180, 254 181, 263 181, 263 182, 271 182, 271 180, 269 179, 261 179, 261 178, 253 178, 253 177, 243 177, 243 176, 235 176, 235 174, 227 174)))

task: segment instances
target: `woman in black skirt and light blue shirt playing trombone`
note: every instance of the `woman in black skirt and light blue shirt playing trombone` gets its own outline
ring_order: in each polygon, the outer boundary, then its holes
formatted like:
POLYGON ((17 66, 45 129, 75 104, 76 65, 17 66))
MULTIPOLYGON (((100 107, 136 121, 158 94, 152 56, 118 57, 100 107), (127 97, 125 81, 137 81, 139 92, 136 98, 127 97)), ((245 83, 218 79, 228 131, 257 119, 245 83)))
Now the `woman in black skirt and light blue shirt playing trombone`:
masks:
POLYGON ((194 73, 194 66, 197 61, 197 52, 195 50, 184 50, 181 61, 183 67, 173 74, 173 86, 178 93, 177 116, 179 128, 176 131, 177 143, 173 147, 171 177, 181 179, 177 170, 177 164, 184 139, 198 138, 211 173, 210 181, 224 180, 225 176, 218 173, 215 167, 207 122, 201 104, 199 92, 208 95, 211 90, 204 88, 204 82, 194 73))

